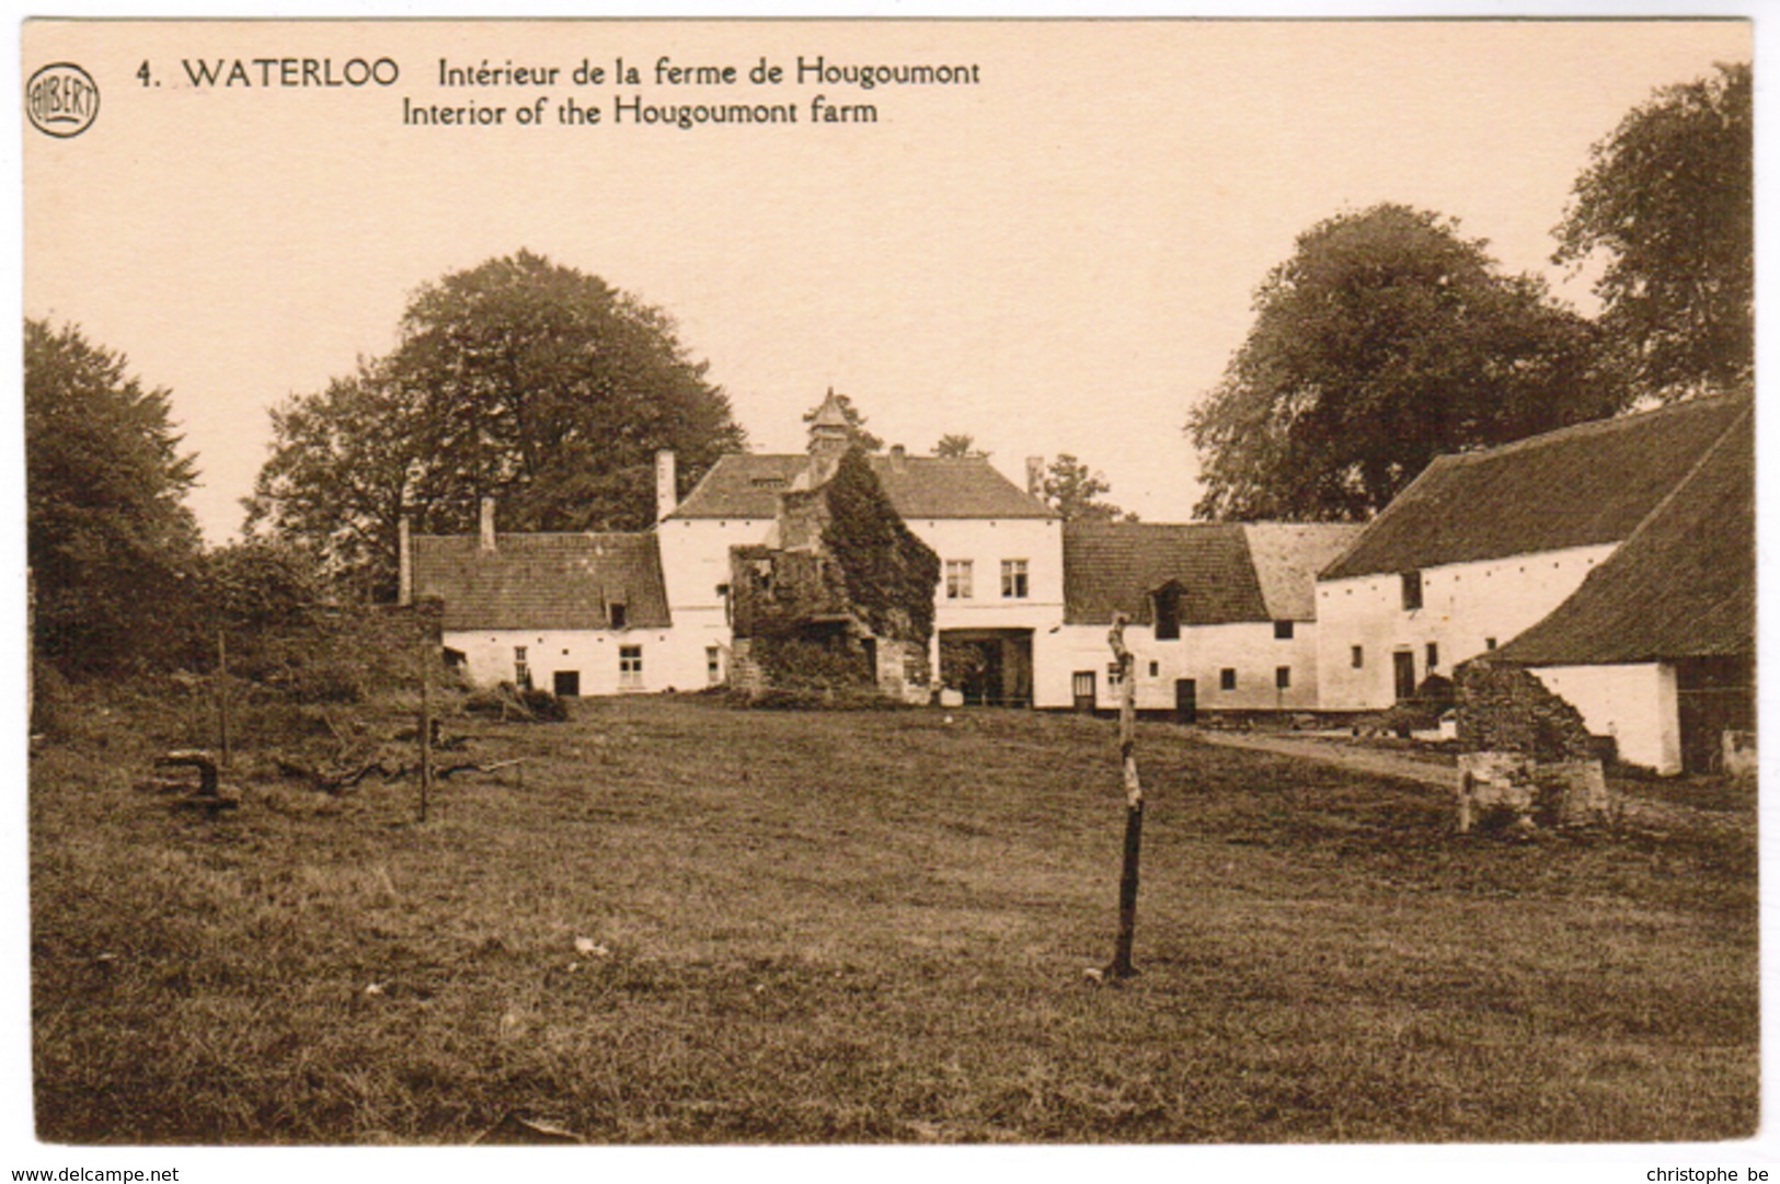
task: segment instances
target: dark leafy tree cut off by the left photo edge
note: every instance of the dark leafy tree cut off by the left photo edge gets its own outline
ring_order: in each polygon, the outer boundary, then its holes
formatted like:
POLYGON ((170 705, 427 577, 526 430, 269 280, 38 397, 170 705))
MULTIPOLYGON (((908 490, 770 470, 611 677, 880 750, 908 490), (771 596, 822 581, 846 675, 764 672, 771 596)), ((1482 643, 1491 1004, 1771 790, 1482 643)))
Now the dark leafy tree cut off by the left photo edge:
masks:
POLYGON ((171 652, 198 554, 198 479, 167 392, 75 326, 25 320, 25 536, 39 653, 68 671, 171 652))

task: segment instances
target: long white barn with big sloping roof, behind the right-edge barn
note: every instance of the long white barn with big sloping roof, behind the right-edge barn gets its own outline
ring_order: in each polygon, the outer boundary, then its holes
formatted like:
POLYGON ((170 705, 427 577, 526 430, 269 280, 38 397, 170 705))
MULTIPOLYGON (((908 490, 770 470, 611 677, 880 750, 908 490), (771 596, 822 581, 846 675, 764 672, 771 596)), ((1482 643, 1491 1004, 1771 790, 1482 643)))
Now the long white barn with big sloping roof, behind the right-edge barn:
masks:
POLYGON ((1435 459, 1317 580, 1321 705, 1390 707, 1545 621, 1750 408, 1703 397, 1435 459))

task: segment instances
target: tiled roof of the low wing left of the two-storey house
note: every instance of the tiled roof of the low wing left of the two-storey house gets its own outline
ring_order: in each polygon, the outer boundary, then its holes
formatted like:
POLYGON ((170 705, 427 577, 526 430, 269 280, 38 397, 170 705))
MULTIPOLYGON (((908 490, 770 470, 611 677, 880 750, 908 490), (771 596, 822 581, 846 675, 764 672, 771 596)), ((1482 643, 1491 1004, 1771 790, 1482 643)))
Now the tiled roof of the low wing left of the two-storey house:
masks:
POLYGON ((473 534, 413 539, 415 595, 445 600, 445 628, 664 628, 668 593, 653 534, 473 534))

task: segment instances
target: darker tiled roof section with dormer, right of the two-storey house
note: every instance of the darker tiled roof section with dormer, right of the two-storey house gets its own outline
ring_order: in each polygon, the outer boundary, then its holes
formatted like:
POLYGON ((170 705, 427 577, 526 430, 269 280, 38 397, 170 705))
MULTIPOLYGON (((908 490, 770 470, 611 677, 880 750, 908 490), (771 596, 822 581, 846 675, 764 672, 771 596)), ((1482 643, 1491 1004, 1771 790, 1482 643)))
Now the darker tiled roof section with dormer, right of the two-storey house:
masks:
POLYGON ((1180 582, 1182 625, 1267 621, 1241 523, 1068 522, 1063 527, 1063 620, 1109 625, 1123 612, 1150 625, 1150 593, 1180 582))

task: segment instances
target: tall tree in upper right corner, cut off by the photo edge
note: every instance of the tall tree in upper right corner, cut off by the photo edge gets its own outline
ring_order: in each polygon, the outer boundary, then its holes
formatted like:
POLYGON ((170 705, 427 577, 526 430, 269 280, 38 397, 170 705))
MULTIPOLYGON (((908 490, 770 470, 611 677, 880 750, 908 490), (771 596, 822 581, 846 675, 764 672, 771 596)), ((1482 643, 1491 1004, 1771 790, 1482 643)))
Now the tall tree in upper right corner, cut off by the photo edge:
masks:
POLYGON ((1755 171, 1748 64, 1663 87, 1595 144, 1552 262, 1595 283, 1616 372, 1639 395, 1739 385, 1755 367, 1755 171))

